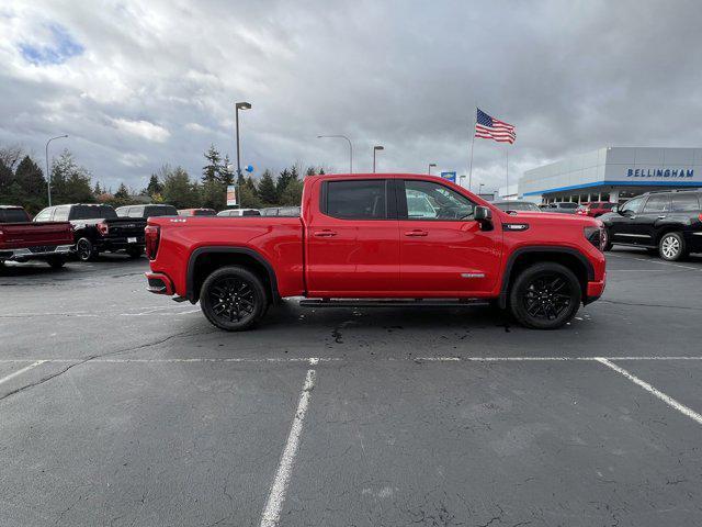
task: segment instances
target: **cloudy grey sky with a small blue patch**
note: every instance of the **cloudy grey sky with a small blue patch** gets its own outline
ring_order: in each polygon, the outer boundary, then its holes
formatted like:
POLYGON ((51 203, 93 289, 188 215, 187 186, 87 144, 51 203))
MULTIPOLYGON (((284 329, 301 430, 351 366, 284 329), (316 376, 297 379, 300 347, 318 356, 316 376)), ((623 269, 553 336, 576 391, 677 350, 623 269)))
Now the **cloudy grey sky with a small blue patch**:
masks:
POLYGON ((0 145, 52 135, 93 176, 141 188, 163 162, 467 173, 474 108, 517 127, 477 139, 474 186, 601 146, 702 146, 698 1, 3 0, 0 145))

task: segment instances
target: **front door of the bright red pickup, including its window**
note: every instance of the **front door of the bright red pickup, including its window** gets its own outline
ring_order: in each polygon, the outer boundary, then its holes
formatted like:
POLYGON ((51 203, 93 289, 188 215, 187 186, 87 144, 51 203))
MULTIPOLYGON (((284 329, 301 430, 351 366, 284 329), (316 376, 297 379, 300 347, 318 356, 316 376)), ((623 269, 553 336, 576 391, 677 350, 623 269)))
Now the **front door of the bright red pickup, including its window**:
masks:
POLYGON ((418 298, 491 291, 500 268, 501 229, 482 231, 475 203, 435 181, 397 180, 400 289, 418 298))

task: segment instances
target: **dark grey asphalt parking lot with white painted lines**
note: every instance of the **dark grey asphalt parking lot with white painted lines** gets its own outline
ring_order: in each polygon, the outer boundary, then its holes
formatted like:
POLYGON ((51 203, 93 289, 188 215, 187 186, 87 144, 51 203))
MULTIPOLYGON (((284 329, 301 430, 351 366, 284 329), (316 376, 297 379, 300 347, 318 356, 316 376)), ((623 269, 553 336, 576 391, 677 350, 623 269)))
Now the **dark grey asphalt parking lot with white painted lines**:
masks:
POLYGON ((145 259, 0 269, 0 525, 700 525, 702 257, 608 260, 556 332, 287 301, 226 334, 145 259))

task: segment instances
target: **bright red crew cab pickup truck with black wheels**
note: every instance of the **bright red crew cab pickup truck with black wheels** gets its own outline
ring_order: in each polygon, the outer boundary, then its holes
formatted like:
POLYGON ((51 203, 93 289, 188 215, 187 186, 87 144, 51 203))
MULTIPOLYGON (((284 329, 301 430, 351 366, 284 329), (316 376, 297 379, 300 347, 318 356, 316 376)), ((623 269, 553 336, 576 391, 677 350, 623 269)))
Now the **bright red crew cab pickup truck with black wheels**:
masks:
POLYGON ((317 307, 490 302, 551 329, 602 294, 601 240, 598 220, 509 214, 431 176, 308 176, 299 217, 150 218, 146 277, 227 330, 285 296, 317 307))

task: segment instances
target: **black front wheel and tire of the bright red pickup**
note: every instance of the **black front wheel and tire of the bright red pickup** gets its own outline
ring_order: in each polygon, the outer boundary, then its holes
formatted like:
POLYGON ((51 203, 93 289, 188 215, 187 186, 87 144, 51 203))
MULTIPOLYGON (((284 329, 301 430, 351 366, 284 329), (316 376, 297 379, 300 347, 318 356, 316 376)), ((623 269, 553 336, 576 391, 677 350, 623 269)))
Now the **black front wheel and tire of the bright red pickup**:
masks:
POLYGON ((556 329, 570 322, 580 307, 580 282, 561 264, 535 264, 514 280, 509 306, 517 321, 533 329, 556 329))

